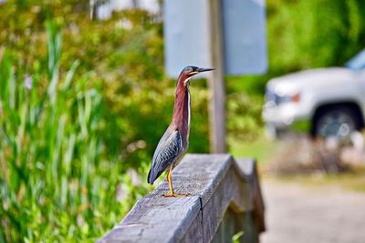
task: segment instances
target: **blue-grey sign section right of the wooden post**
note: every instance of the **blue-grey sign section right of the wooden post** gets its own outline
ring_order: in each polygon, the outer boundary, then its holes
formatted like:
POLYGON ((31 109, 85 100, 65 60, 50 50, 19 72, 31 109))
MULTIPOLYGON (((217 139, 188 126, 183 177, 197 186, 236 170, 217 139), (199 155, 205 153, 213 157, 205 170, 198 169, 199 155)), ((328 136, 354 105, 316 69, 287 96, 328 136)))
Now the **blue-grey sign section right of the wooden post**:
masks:
POLYGON ((222 8, 226 74, 265 73, 265 0, 224 0, 222 8))

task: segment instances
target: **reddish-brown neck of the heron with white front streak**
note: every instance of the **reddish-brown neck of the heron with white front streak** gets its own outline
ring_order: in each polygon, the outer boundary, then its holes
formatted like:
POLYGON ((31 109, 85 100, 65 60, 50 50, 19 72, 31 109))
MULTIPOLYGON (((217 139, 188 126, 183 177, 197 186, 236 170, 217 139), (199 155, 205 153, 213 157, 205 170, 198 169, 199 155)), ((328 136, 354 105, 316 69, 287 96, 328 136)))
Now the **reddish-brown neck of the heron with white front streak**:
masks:
POLYGON ((175 92, 175 104, 173 106, 172 123, 184 135, 189 137, 190 132, 190 92, 189 82, 178 82, 175 92))

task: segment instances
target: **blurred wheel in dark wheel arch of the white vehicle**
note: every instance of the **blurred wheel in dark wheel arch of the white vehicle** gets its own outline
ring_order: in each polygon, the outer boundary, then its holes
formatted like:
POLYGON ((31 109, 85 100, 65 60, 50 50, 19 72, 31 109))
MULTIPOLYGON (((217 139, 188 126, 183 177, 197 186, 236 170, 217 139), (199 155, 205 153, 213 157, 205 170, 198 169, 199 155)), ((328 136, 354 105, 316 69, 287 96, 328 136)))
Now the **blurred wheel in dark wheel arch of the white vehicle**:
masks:
POLYGON ((336 137, 339 140, 346 140, 358 129, 360 129, 360 117, 353 109, 346 106, 334 106, 322 110, 314 121, 316 137, 336 137))

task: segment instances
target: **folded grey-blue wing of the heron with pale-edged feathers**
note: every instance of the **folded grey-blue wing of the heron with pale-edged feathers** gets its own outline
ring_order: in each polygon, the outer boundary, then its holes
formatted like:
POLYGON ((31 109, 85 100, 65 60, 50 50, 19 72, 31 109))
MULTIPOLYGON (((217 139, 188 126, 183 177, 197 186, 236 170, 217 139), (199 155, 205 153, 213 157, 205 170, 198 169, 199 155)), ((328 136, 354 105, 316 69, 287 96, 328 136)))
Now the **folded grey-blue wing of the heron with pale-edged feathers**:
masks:
POLYGON ((182 135, 178 130, 167 130, 154 152, 148 183, 152 184, 170 166, 183 149, 182 135))

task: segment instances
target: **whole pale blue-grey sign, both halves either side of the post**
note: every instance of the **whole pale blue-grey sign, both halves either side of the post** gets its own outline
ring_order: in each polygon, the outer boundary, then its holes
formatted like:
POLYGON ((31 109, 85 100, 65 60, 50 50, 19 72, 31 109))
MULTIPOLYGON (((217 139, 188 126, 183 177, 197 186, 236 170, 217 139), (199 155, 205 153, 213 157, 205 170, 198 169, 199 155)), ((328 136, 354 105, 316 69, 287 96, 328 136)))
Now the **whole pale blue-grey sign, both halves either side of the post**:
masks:
MULTIPOLYGON (((169 76, 179 76, 183 66, 211 66, 211 1, 165 0, 165 66, 169 76)), ((265 0, 223 0, 220 6, 225 73, 266 72, 265 0)))

